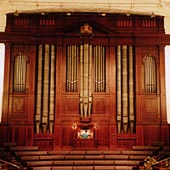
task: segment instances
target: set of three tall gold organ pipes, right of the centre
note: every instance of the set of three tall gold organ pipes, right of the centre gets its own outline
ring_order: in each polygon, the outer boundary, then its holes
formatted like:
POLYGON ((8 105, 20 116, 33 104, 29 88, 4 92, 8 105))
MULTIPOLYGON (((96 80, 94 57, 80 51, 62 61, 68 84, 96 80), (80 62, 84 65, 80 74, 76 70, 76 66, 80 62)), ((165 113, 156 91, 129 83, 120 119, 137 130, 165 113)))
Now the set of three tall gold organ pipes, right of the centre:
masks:
POLYGON ((134 61, 132 46, 117 46, 117 131, 134 132, 134 61))

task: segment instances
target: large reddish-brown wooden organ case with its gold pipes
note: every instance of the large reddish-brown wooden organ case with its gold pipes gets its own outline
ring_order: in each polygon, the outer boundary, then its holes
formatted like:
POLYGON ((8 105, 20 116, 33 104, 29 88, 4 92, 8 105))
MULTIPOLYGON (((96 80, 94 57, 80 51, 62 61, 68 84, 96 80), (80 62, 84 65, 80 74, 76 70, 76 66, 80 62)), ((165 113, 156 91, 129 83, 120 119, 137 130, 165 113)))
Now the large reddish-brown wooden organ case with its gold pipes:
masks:
POLYGON ((81 127, 98 148, 169 144, 163 17, 8 14, 1 35, 1 144, 70 149, 81 127))

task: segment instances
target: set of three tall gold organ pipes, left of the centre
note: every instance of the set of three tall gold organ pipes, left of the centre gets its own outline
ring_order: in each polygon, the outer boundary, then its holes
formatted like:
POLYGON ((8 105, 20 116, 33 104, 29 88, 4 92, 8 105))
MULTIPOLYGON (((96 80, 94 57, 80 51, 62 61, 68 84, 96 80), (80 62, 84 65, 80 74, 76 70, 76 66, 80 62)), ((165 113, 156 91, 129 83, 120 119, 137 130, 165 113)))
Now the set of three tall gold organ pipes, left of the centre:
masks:
POLYGON ((36 133, 53 133, 55 114, 55 46, 39 45, 35 123, 36 133))

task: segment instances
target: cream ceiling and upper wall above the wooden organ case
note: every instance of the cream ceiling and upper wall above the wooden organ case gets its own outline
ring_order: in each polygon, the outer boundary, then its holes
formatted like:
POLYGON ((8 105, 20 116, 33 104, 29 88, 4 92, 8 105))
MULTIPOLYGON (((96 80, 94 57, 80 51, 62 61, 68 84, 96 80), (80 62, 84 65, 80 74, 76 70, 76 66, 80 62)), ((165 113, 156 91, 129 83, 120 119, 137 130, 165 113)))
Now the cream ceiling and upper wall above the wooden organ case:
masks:
POLYGON ((0 0, 0 31, 7 13, 97 12, 165 16, 170 34, 170 0, 0 0))

